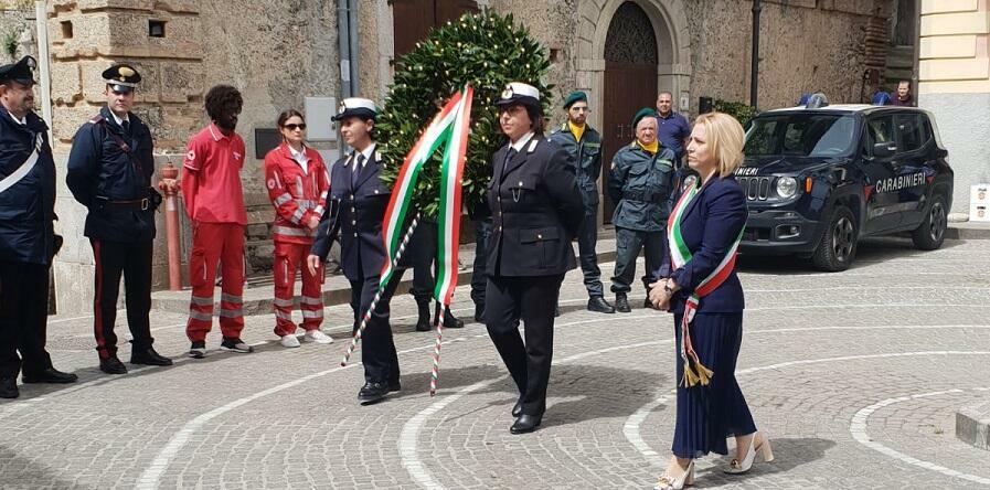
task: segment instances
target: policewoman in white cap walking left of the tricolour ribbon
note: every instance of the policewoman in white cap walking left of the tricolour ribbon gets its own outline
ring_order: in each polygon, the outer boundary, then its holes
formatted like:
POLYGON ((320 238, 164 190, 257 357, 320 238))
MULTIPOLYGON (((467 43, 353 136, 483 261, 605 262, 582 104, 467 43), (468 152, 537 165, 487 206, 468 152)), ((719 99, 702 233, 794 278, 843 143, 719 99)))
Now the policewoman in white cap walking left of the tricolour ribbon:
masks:
MULTIPOLYGON (((309 270, 315 274, 317 266, 327 259, 330 244, 340 237, 340 266, 351 283, 354 331, 379 289, 385 264, 382 221, 392 192, 379 178, 382 162, 372 134, 376 116, 374 103, 360 97, 343 99, 333 116, 333 120, 340 121, 344 142, 354 151, 330 170, 328 209, 307 258, 309 270)), ((398 355, 388 324, 388 301, 401 278, 400 271, 392 276, 364 328, 361 348, 364 386, 358 392, 361 405, 381 402, 390 392, 400 390, 398 355)))

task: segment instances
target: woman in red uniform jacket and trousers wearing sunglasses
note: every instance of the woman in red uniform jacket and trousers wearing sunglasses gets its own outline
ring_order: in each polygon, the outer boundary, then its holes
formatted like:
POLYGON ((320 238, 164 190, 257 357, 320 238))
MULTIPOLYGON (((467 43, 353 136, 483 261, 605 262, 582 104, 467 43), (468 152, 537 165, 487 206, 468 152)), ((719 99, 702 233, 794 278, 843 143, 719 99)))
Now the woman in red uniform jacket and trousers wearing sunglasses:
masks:
POLYGON ((296 270, 302 276, 304 340, 331 343, 333 339, 320 331, 323 322, 323 297, 320 284, 322 265, 310 273, 306 257, 313 235, 327 206, 330 178, 323 159, 305 143, 306 120, 298 110, 289 109, 278 116, 278 131, 283 142, 265 156, 265 185, 275 206, 272 238, 275 241, 275 334, 286 348, 299 347, 296 323, 292 322, 296 270))

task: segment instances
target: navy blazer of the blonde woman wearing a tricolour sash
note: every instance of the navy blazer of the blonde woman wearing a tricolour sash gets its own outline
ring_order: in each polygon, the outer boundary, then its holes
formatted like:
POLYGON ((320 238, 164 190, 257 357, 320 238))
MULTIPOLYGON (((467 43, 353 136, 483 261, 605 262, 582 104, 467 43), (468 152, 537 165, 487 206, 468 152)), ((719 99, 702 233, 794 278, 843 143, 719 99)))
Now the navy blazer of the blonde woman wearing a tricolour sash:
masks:
MULTIPOLYGON (((678 190, 677 199, 681 191, 678 190)), ((669 277, 681 287, 671 299, 675 313, 684 311, 684 301, 694 288, 718 266, 725 253, 746 225, 746 194, 733 177, 712 177, 688 205, 681 220, 681 236, 691 251, 691 259, 669 277)), ((668 248, 669 249, 669 248, 668 248)), ((664 277, 670 270, 670 256, 663 258, 654 277, 664 277)), ((743 285, 735 270, 717 289, 701 298, 698 311, 702 313, 736 313, 743 311, 743 285)))

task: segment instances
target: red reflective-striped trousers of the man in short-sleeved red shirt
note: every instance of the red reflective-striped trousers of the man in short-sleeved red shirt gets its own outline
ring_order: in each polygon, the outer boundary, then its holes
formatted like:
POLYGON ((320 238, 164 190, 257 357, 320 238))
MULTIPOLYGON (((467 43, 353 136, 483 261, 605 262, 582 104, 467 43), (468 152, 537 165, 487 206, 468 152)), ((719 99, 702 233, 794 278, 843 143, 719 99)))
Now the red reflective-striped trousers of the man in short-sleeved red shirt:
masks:
POLYGON ((244 329, 241 298, 244 292, 244 226, 236 223, 199 223, 192 233, 192 255, 189 257, 192 298, 185 335, 192 342, 206 340, 213 323, 213 289, 219 262, 223 273, 220 331, 224 338, 238 339, 244 329))

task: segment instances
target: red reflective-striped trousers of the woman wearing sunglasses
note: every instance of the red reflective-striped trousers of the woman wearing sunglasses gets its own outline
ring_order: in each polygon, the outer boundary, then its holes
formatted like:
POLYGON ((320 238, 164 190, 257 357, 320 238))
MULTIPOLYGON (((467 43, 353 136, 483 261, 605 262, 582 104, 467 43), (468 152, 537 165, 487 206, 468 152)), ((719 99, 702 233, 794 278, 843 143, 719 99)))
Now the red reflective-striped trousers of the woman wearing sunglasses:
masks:
POLYGON ((317 275, 309 274, 306 267, 306 257, 311 245, 298 243, 275 242, 275 260, 272 269, 275 273, 275 334, 290 335, 296 333, 296 323, 292 323, 292 297, 296 283, 296 271, 302 276, 302 296, 299 298, 299 309, 302 310, 302 328, 316 330, 323 323, 323 296, 320 285, 323 283, 323 267, 317 269, 317 275))

